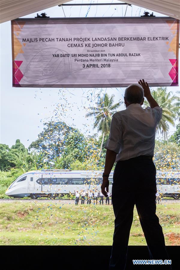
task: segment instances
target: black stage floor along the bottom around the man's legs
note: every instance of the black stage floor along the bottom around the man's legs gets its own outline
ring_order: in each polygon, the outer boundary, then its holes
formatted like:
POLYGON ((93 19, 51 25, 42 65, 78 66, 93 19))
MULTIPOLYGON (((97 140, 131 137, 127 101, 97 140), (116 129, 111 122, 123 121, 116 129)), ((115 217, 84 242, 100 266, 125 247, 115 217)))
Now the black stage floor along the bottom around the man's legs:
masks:
MULTIPOLYGON (((167 246, 172 270, 179 270, 179 246, 167 246)), ((6 269, 109 270, 111 246, 1 246, 6 269)), ((149 259, 147 246, 129 246, 126 270, 152 269, 133 265, 132 259, 149 259)), ((161 258, 159 258, 161 259, 161 258)), ((163 265, 158 269, 164 269, 163 265)), ((156 268, 155 268, 156 269, 156 268)))

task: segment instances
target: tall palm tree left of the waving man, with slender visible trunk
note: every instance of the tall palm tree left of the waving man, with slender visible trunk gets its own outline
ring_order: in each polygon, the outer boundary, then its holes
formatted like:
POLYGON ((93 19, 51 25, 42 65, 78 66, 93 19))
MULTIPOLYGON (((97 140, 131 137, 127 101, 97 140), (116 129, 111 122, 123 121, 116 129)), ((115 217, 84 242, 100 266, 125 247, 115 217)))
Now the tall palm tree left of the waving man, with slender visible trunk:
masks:
POLYGON ((96 103, 97 107, 89 107, 88 109, 91 111, 85 115, 85 117, 95 117, 94 128, 98 128, 98 132, 101 131, 103 134, 99 157, 101 156, 104 136, 110 132, 112 115, 117 112, 117 108, 122 104, 122 101, 114 105, 113 102, 114 95, 109 97, 105 94, 103 98, 99 98, 99 101, 96 103))

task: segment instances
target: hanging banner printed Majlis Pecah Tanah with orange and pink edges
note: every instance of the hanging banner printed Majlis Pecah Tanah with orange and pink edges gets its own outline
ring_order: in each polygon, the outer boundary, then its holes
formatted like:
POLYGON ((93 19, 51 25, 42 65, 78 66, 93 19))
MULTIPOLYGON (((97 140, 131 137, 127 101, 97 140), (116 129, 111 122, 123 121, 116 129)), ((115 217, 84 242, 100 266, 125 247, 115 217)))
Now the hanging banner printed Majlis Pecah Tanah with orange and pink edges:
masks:
POLYGON ((13 86, 178 85, 179 20, 38 18, 12 22, 13 86))

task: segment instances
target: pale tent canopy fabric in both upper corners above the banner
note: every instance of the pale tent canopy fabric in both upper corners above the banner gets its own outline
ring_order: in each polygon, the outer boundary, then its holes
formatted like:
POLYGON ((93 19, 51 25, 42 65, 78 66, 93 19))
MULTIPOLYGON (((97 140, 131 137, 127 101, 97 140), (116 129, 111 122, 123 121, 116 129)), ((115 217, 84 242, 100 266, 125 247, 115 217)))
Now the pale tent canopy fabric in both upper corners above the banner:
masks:
MULTIPOLYGON (((0 23, 69 1, 70 0, 1 0, 0 23)), ((180 19, 179 0, 128 0, 125 2, 180 19)))

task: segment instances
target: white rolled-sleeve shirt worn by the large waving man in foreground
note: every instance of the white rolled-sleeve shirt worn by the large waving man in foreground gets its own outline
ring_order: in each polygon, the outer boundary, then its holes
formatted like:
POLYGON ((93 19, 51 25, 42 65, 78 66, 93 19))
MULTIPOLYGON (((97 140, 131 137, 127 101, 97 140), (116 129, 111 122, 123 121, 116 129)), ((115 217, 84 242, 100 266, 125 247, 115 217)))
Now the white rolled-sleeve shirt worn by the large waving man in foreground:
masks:
POLYGON ((162 108, 130 104, 112 117, 110 136, 105 149, 117 153, 115 162, 140 155, 154 156, 155 132, 162 118, 162 108))

